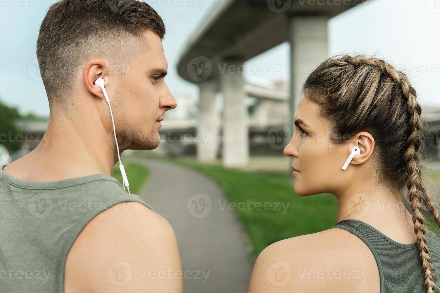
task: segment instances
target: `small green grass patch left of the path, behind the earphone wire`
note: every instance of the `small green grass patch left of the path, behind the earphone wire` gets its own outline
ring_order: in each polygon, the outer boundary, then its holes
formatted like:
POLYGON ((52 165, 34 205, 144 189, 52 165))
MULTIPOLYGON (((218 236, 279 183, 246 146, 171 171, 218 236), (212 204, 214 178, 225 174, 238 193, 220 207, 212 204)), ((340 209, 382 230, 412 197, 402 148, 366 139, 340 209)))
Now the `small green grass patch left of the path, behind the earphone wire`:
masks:
MULTIPOLYGON (((130 162, 125 163, 124 168, 125 173, 127 173, 128 183, 130 184, 130 192, 138 194, 143 185, 147 183, 150 175, 148 169, 143 165, 130 162)), ((113 177, 115 177, 122 186, 122 175, 121 170, 119 170, 119 163, 114 166, 113 177)))

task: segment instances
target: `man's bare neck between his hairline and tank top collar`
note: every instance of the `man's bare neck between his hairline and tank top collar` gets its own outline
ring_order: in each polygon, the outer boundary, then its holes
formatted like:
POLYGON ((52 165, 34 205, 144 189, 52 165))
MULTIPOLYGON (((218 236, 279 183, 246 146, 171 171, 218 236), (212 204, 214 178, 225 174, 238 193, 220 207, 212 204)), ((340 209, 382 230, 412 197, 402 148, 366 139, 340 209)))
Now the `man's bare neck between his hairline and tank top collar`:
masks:
POLYGON ((22 180, 38 182, 93 174, 112 176, 117 162, 114 141, 107 139, 110 136, 99 117, 88 118, 86 121, 51 116, 37 148, 6 166, 4 171, 22 180))

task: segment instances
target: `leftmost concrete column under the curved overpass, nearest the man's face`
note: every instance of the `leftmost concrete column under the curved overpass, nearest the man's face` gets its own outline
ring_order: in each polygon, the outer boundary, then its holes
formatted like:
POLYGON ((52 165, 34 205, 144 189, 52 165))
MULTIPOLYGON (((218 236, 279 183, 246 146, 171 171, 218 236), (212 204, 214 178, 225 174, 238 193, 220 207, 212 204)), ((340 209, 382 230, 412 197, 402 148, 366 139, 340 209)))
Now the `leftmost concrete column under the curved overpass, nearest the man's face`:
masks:
POLYGON ((197 159, 205 162, 216 159, 219 144, 220 113, 217 108, 216 80, 207 80, 199 84, 197 159))

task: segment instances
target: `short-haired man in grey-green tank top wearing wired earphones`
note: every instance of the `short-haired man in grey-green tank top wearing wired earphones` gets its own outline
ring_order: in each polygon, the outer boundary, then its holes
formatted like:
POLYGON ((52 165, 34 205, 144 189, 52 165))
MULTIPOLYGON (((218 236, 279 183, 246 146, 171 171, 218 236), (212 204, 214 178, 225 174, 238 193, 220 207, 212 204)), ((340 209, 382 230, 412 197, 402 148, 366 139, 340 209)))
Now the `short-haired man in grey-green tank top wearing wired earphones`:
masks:
POLYGON ((120 154, 157 148, 176 108, 164 34, 137 0, 49 8, 37 41, 49 126, 33 152, 0 169, 1 292, 182 292, 171 226, 111 177, 112 119, 95 86, 105 80, 120 154))

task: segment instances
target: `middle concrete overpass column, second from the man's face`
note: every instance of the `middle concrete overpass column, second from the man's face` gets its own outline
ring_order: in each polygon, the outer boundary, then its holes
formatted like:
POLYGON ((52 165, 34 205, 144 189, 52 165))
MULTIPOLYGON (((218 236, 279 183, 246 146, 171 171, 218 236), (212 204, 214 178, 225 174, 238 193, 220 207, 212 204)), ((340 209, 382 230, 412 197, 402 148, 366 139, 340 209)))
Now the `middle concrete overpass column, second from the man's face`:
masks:
POLYGON ((249 161, 249 127, 242 61, 225 61, 220 87, 224 97, 223 166, 244 166, 249 161))

